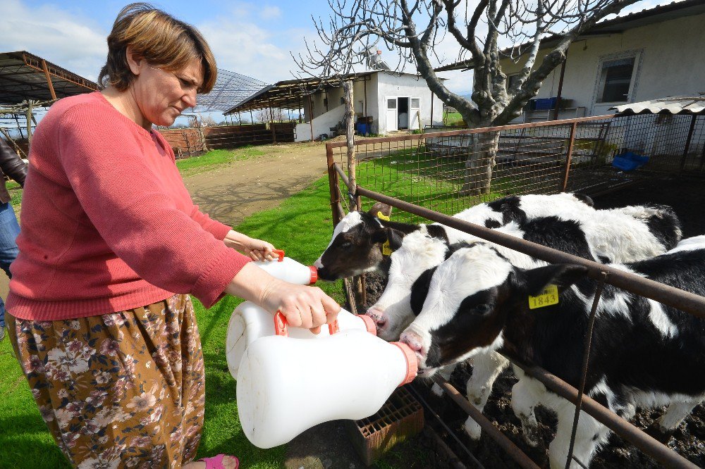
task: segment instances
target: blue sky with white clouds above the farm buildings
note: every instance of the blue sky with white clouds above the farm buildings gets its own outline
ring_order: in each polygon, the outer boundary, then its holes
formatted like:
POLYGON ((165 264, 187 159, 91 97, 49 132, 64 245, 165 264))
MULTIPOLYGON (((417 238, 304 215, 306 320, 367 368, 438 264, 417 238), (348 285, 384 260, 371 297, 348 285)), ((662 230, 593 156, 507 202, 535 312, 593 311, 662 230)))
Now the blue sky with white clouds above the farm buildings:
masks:
MULTIPOLYGON (((118 11, 128 3, 126 0, 2 2, 0 51, 27 50, 92 80, 105 60, 105 37, 118 11)), ((626 11, 658 3, 666 1, 640 1, 626 11)), ((220 68, 269 83, 293 77, 291 70, 296 70, 296 65, 290 51, 304 51, 304 37, 317 38, 311 15, 324 19, 329 16, 326 0, 190 0, 161 1, 154 5, 196 25, 211 44, 220 68)), ((453 62, 458 46, 448 38, 439 51, 445 63, 453 62)), ((391 53, 385 51, 385 54, 391 53)), ((470 73, 442 76, 449 79, 446 83, 453 92, 472 89, 470 73)))

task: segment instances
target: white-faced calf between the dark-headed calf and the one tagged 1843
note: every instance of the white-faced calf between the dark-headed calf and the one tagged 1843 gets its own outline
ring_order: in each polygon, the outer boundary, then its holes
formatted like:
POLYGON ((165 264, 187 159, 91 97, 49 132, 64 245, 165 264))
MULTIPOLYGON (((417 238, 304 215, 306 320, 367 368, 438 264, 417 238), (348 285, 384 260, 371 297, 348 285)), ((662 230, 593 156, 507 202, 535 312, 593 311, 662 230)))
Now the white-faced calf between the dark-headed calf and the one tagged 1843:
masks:
MULTIPOLYGON (((491 202, 470 208, 458 216, 472 218, 471 215, 486 217, 489 213, 502 213, 504 225, 495 228, 500 232, 602 262, 625 263, 652 258, 673 248, 681 236, 680 221, 668 206, 594 210, 585 204, 570 204, 565 197, 557 196, 505 197, 498 202, 501 202, 496 206, 499 211, 491 208, 494 204, 491 202), (550 201, 558 204, 548 204, 550 201), (537 220, 542 221, 538 223, 537 220), (566 225, 563 223, 566 220, 572 223, 566 225), (580 251, 575 251, 570 238, 573 236, 584 239, 587 248, 582 246, 580 251)), ((404 327, 411 323, 412 284, 424 271, 445 260, 448 244, 452 243, 450 239, 482 241, 449 227, 439 235, 437 226, 420 225, 405 238, 396 239, 394 244, 399 247, 387 261, 387 286, 378 301, 367 310, 367 315, 377 325, 379 337, 396 340, 404 327)), ((503 254, 512 260, 513 265, 526 267, 528 256, 509 249, 503 249, 503 254)))

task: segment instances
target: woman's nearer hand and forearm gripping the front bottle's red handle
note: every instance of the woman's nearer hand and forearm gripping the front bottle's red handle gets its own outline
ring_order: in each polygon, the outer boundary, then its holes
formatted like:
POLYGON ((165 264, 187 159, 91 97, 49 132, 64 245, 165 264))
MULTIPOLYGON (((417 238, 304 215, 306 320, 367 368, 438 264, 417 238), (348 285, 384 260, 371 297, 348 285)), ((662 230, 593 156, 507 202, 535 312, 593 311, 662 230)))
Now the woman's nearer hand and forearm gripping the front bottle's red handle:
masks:
POLYGON ((281 311, 290 326, 305 327, 314 334, 321 331, 321 325, 333 323, 341 311, 341 306, 320 288, 278 280, 249 263, 225 291, 254 301, 272 314, 281 311))

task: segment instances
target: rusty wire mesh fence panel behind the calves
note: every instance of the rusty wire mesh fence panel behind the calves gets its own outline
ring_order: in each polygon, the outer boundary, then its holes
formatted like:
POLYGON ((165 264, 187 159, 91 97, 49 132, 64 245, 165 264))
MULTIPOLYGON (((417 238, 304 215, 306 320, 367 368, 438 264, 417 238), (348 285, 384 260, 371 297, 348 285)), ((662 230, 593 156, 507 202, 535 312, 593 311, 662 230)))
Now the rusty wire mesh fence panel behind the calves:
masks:
MULTIPOLYGON (((345 142, 328 144, 347 168, 345 142)), ((705 116, 605 115, 360 140, 357 184, 453 214, 501 196, 596 195, 654 173, 704 171, 705 116)), ((347 188, 338 187, 341 199, 347 188)), ((412 215, 403 215, 415 220, 412 215)))

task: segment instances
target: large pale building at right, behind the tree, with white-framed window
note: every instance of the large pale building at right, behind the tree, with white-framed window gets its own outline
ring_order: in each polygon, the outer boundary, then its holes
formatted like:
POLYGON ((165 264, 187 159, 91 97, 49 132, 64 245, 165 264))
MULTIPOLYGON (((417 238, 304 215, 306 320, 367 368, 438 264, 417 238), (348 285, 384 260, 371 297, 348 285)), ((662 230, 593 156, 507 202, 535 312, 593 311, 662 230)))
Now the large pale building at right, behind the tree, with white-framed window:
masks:
MULTIPOLYGON (((541 42, 546 53, 556 39, 541 42)), ((540 63, 541 52, 539 52, 540 63)), ((508 83, 522 61, 501 62, 508 83)), ((455 63, 437 69, 467 69, 455 63)), ((546 77, 537 99, 560 98, 558 118, 612 113, 621 104, 705 92, 705 1, 686 0, 606 20, 580 36, 561 67, 546 77), (565 101, 564 101, 565 100, 565 101)), ((555 109, 527 110, 515 122, 556 117, 555 109)))

